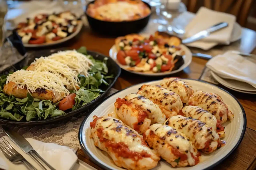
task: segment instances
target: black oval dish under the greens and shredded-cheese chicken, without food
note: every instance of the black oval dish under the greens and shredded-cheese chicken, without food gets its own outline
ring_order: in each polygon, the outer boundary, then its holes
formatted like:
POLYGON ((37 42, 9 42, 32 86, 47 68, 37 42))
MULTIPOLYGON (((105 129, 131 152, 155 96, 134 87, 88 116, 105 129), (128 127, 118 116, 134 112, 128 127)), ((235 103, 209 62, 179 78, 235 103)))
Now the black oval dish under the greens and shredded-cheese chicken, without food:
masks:
MULTIPOLYGON (((33 62, 35 60, 35 58, 40 58, 41 56, 49 56, 52 53, 56 53, 58 51, 63 51, 63 50, 70 50, 67 48, 58 48, 58 49, 53 49, 53 50, 41 50, 41 51, 36 51, 32 54, 29 54, 26 58, 24 58, 22 61, 20 61, 19 63, 15 64, 14 66, 11 66, 9 68, 7 68, 5 71, 3 71, 0 74, 8 74, 9 71, 16 71, 19 69, 22 69, 24 66, 29 66, 29 64, 31 62, 33 62)), ((87 53, 91 56, 93 56, 93 58, 97 59, 97 60, 102 60, 107 57, 105 55, 93 52, 93 51, 87 51, 87 53)), ((97 103, 99 103, 102 99, 103 96, 106 95, 106 93, 108 93, 108 91, 110 90, 110 88, 114 85, 114 83, 116 82, 117 78, 119 77, 120 73, 121 73, 121 68, 115 63, 115 61, 113 59, 111 59, 111 57, 108 57, 107 60, 107 67, 109 68, 109 72, 107 75, 113 75, 113 78, 108 79, 107 82, 109 83, 108 86, 103 86, 101 87, 102 90, 105 90, 99 97, 97 97, 96 99, 92 100, 91 102, 85 104, 84 106, 82 106, 81 108, 77 109, 77 110, 73 110, 70 112, 67 112, 66 114, 57 116, 57 117, 52 117, 52 118, 48 118, 45 120, 38 120, 38 121, 12 121, 12 120, 8 120, 5 118, 0 117, 0 124, 16 124, 16 125, 39 125, 39 124, 47 124, 50 122, 55 122, 55 121, 59 121, 62 119, 66 119, 68 117, 77 115, 77 114, 81 114, 87 110, 92 110, 93 106, 96 105, 97 103)))

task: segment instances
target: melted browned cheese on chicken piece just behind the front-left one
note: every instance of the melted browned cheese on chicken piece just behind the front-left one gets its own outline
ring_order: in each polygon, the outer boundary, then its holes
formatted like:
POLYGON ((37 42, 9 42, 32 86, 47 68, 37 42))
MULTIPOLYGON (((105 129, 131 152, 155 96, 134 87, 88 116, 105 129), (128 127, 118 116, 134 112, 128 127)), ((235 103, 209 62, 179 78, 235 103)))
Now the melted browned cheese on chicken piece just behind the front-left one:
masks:
POLYGON ((151 123, 160 123, 163 124, 165 121, 165 115, 162 110, 154 104, 151 100, 141 96, 137 93, 132 93, 124 97, 126 100, 136 104, 142 108, 148 114, 148 118, 151 120, 151 123))

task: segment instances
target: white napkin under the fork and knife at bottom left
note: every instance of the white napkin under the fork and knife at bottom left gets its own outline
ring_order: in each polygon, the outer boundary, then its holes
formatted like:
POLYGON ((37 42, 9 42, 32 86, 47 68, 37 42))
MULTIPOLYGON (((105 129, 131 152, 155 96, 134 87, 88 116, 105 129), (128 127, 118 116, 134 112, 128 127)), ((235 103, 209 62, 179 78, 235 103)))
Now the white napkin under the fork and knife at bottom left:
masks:
MULTIPOLYGON (((18 148, 9 137, 5 136, 4 138, 13 146, 16 151, 23 155, 29 163, 35 166, 36 169, 41 169, 40 166, 33 160, 33 158, 18 148)), ((44 143, 32 138, 26 138, 26 140, 35 149, 35 151, 37 151, 37 153, 56 170, 69 170, 77 162, 77 155, 73 152, 72 149, 66 146, 60 146, 55 143, 44 143)), ((6 170, 26 169, 23 164, 13 164, 8 161, 2 152, 0 152, 0 168, 6 170)))

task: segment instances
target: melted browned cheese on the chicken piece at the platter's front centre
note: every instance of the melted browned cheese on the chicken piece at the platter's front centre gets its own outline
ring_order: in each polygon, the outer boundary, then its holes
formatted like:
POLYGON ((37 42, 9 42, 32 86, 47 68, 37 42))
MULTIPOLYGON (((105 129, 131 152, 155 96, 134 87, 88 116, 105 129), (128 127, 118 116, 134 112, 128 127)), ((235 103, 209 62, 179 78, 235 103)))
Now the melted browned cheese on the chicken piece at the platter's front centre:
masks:
MULTIPOLYGON (((172 146, 173 148, 177 149, 180 153, 184 153, 187 155, 187 160, 189 165, 195 165, 195 160, 191 156, 191 153, 196 156, 197 150, 194 151, 194 146, 185 134, 178 132, 176 129, 162 124, 153 124, 150 128, 146 131, 145 135, 148 136, 150 132, 153 132, 159 139, 164 140, 165 144, 172 146)), ((155 145, 162 145, 162 143, 155 143, 155 145)), ((154 146, 153 146, 154 148, 154 146)), ((154 148, 156 149, 156 148, 154 148)), ((172 152, 172 150, 166 150, 164 147, 157 147, 157 151, 161 157, 166 155, 165 152, 172 152), (161 150, 162 149, 162 150, 161 150)), ((168 159, 168 158, 167 158, 168 159)), ((173 160, 174 161, 174 160, 173 160)))

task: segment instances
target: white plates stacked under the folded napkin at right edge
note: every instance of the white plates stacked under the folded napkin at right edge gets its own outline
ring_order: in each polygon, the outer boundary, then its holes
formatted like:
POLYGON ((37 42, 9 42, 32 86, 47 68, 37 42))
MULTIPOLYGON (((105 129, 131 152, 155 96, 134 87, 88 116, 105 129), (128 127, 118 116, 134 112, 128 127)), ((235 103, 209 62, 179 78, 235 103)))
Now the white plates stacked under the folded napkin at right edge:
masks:
POLYGON ((256 94, 256 89, 248 83, 239 82, 239 81, 230 80, 230 79, 223 79, 212 71, 211 71, 211 75, 217 82, 219 82, 223 86, 226 86, 232 90, 239 91, 242 93, 256 94))

